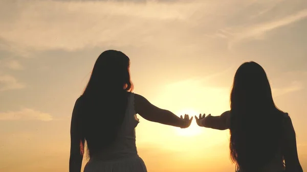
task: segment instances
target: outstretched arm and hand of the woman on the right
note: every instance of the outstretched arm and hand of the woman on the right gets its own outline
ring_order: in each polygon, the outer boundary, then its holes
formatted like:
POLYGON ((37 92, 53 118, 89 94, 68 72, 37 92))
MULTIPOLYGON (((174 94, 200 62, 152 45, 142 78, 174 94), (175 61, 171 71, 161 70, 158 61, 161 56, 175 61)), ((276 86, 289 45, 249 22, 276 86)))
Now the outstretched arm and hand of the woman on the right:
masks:
POLYGON ((216 129, 216 130, 227 130, 229 129, 229 119, 230 119, 230 111, 226 111, 222 113, 220 116, 211 116, 209 115, 201 115, 196 118, 196 122, 201 127, 216 129))

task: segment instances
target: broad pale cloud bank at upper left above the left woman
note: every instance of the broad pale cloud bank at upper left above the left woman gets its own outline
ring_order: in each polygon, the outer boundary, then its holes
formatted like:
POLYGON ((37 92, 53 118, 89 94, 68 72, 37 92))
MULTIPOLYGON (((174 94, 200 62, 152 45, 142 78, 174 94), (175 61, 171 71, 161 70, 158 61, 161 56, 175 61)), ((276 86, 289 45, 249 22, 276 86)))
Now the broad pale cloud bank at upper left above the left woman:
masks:
POLYGON ((150 41, 150 33, 160 32, 163 22, 187 20, 199 8, 195 3, 113 1, 29 1, 19 5, 23 6, 20 15, 4 22, 0 28, 0 38, 12 51, 74 51, 102 44, 140 45, 150 41))

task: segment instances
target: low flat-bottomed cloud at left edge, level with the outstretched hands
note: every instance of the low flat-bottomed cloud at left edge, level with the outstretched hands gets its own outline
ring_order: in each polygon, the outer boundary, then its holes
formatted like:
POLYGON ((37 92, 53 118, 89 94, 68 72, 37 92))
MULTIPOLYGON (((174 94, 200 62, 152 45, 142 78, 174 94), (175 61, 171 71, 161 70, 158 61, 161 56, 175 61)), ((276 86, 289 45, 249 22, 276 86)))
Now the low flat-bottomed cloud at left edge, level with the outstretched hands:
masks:
POLYGON ((24 108, 19 111, 0 112, 0 120, 53 120, 48 113, 43 113, 33 109, 24 108))

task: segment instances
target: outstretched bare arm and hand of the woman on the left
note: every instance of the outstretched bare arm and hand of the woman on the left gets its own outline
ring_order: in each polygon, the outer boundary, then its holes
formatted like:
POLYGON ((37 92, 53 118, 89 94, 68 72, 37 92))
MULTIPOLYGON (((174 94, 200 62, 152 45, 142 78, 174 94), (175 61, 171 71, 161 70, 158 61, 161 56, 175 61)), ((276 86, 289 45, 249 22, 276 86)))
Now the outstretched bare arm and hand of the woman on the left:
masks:
POLYGON ((145 97, 139 94, 135 94, 135 110, 144 119, 174 127, 186 128, 189 127, 192 121, 192 118, 184 120, 168 110, 152 105, 145 97))

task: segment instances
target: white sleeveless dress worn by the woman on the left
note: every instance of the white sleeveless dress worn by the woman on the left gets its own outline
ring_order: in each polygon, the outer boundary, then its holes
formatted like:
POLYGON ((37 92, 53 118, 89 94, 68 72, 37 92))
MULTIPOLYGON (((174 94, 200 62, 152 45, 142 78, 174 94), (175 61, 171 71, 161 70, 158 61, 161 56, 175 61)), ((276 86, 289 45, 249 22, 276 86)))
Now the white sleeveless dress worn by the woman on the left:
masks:
POLYGON ((136 147, 135 128, 139 123, 134 108, 134 93, 128 96, 128 104, 122 127, 112 148, 99 158, 91 158, 84 172, 147 172, 136 147))

